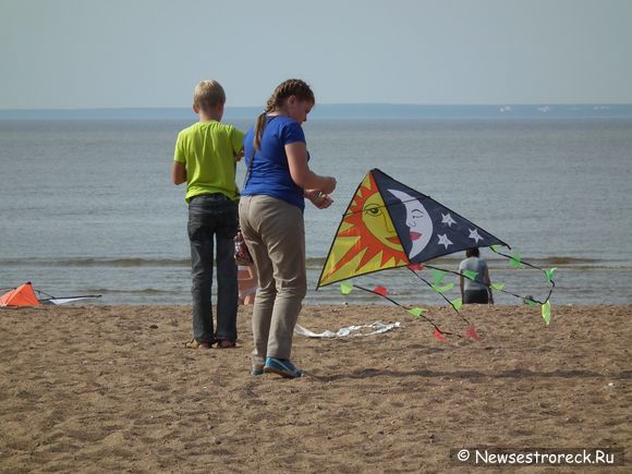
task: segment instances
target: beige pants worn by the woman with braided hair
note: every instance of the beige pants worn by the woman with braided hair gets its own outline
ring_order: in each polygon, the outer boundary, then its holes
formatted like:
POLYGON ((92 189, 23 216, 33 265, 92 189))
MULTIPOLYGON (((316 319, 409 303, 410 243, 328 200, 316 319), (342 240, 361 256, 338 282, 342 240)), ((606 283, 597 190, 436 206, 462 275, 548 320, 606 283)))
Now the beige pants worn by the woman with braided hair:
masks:
POLYGON ((253 307, 253 368, 266 357, 290 358, 292 336, 307 292, 305 223, 296 206, 269 196, 242 196, 240 224, 257 268, 253 307))

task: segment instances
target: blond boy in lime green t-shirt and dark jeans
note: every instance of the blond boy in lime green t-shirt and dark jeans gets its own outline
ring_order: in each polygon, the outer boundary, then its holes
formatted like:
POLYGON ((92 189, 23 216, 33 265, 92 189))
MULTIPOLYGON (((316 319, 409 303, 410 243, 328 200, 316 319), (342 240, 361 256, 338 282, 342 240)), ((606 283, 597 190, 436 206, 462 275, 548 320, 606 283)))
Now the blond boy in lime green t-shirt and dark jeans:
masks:
POLYGON ((234 348, 238 278, 233 238, 238 231, 235 160, 243 154, 243 132, 221 122, 226 94, 216 81, 195 87, 193 111, 199 121, 178 135, 171 180, 186 182, 187 232, 193 284, 193 340, 187 348, 234 348), (211 287, 214 241, 217 243, 217 330, 211 287))

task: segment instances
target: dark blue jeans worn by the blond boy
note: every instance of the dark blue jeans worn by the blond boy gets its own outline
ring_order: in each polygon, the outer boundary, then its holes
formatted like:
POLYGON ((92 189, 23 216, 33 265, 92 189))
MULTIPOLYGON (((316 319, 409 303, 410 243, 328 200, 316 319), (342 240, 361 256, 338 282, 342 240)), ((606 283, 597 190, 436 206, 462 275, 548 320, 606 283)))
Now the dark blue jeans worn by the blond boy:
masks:
POLYGON ((192 197, 189 203, 193 296, 193 337, 198 342, 236 340, 238 276, 233 238, 238 205, 222 194, 192 197), (217 242, 217 332, 212 326, 214 243, 217 242))

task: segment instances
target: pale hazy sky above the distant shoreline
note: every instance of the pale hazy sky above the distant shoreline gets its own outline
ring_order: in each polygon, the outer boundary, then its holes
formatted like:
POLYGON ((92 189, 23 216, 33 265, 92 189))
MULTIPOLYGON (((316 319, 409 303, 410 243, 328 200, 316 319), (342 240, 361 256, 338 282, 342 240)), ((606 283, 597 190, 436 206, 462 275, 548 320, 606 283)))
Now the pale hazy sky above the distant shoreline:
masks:
POLYGON ((0 109, 632 104, 632 0, 0 0, 0 109))

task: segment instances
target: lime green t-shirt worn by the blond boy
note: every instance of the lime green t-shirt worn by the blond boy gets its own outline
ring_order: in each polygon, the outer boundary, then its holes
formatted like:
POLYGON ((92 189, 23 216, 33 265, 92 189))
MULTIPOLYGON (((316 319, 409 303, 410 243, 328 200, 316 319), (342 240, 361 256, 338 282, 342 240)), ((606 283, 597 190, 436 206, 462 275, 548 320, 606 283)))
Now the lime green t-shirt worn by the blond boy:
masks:
POLYGON ((238 198, 234 156, 243 141, 243 132, 215 121, 197 122, 178 134, 173 160, 186 167, 187 203, 193 196, 210 193, 238 198))

